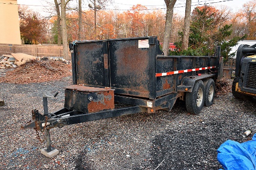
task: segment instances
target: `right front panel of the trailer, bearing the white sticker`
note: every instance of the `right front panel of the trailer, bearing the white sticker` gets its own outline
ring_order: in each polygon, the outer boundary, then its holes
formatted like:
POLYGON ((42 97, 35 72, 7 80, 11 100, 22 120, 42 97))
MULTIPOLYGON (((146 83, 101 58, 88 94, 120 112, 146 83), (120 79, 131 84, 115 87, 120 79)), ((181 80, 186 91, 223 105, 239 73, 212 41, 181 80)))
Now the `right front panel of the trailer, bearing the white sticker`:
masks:
POLYGON ((148 39, 109 41, 108 48, 110 83, 115 94, 149 97, 148 39))

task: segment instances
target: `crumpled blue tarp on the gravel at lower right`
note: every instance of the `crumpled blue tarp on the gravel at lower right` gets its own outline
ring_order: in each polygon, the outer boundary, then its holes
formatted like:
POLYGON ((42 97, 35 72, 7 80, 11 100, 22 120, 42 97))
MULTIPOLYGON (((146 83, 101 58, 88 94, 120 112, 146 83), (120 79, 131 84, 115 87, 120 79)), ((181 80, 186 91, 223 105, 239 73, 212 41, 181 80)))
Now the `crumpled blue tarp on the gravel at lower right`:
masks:
POLYGON ((256 170, 256 134, 242 144, 227 140, 217 150, 217 159, 224 170, 256 170))

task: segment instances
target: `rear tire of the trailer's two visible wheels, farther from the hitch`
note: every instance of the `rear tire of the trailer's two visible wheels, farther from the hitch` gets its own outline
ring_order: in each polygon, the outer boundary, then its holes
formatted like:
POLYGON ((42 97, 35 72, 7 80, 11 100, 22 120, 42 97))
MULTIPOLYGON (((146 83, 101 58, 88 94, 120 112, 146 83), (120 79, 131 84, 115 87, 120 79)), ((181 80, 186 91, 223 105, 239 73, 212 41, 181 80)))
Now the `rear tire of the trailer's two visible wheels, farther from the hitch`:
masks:
POLYGON ((215 82, 213 79, 205 79, 203 81, 205 87, 205 102, 204 106, 211 106, 215 96, 215 82))

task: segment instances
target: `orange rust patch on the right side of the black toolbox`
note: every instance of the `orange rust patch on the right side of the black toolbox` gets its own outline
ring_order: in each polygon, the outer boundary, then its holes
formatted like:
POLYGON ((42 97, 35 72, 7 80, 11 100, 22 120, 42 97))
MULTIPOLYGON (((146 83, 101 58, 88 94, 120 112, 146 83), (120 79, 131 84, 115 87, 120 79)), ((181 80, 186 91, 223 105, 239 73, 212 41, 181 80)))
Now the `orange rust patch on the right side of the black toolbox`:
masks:
POLYGON ((114 90, 98 93, 98 96, 103 96, 103 98, 100 97, 100 100, 90 101, 88 103, 88 113, 99 112, 105 109, 114 109, 114 90))

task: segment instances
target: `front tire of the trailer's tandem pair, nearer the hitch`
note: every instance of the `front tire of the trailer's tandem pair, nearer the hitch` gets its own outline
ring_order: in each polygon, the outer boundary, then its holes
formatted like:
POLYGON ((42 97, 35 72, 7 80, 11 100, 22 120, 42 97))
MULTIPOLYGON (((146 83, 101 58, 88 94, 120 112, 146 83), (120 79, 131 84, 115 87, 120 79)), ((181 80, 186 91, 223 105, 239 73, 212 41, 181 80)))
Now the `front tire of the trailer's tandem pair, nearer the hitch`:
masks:
POLYGON ((189 113, 199 114, 205 101, 205 88, 202 80, 195 82, 192 92, 186 93, 186 108, 189 113))

